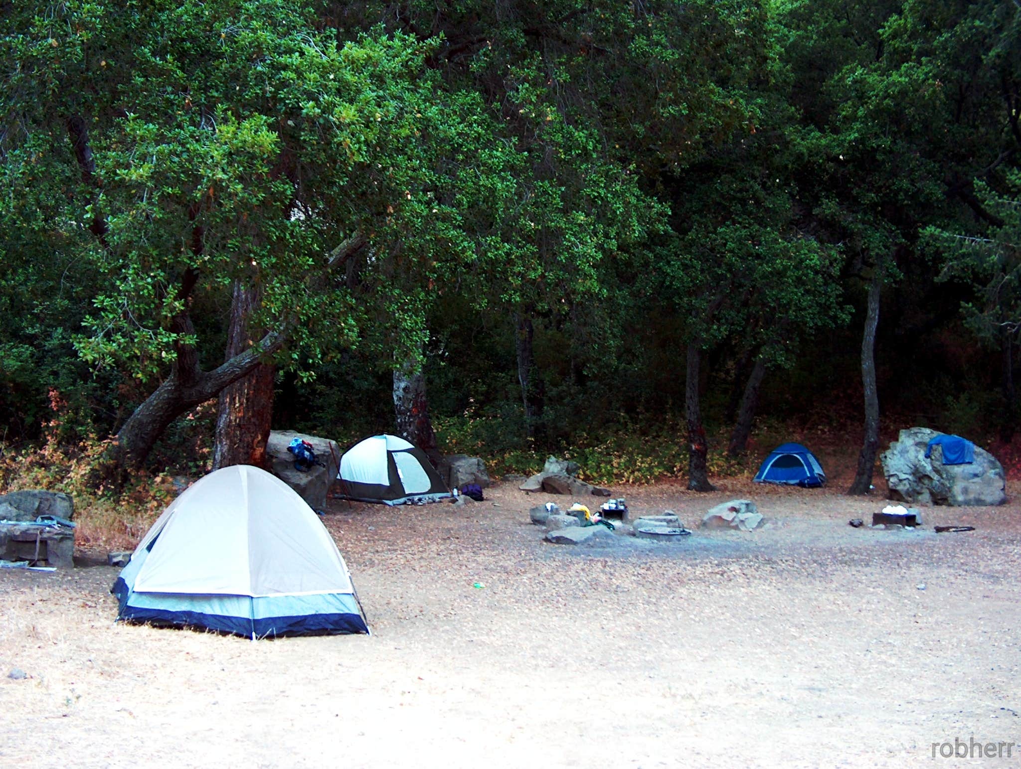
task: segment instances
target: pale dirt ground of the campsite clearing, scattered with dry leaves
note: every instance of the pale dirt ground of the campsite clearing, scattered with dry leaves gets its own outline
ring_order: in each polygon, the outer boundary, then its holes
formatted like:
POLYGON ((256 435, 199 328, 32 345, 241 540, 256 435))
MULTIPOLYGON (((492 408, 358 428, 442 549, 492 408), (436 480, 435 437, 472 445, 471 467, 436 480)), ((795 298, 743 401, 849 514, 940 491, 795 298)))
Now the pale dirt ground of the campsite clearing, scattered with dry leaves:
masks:
POLYGON ((369 637, 114 624, 102 554, 0 573, 0 765, 1021 766, 1017 746, 932 757, 1021 743, 1013 497, 880 532, 847 520, 884 502, 837 489, 616 490, 689 526, 746 496, 770 526, 577 549, 544 543, 527 510, 550 497, 513 485, 333 502, 369 637), (933 532, 952 523, 976 530, 933 532))

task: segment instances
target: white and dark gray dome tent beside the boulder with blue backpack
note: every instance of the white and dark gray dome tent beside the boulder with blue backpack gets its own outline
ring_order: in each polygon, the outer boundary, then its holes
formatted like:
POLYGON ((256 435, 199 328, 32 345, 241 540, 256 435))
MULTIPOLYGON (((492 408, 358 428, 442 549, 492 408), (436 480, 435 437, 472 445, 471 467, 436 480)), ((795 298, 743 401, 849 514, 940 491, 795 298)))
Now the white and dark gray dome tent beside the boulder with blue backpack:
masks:
POLYGON ((343 499, 383 504, 435 501, 453 496, 426 452, 396 435, 358 441, 340 458, 343 499))

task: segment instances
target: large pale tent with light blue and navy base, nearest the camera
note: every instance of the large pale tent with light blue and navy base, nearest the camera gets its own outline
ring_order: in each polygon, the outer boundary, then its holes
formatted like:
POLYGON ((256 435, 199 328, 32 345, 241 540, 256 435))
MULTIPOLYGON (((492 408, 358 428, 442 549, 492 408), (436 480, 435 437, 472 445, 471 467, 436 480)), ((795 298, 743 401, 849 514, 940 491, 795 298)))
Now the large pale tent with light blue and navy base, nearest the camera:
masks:
POLYGON ((175 499, 110 592, 118 620, 252 638, 369 632, 330 532, 290 486, 248 465, 175 499))

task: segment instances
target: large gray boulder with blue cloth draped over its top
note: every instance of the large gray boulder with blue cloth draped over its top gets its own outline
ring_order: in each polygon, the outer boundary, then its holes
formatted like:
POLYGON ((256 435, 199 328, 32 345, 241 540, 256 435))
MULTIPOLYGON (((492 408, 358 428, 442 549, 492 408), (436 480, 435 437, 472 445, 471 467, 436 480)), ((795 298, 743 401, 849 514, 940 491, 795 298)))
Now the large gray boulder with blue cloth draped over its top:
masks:
POLYGON ((943 465, 942 447, 925 447, 940 433, 927 427, 902 430, 880 455, 890 499, 923 504, 1003 504, 1007 501, 1003 466, 975 446, 971 465, 943 465))

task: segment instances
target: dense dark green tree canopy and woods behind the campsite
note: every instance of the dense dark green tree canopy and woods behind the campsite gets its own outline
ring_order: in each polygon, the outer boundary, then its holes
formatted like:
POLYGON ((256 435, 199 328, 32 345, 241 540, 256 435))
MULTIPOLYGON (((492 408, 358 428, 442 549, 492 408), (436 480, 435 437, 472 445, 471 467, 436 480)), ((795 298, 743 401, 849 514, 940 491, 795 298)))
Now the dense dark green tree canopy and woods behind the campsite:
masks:
POLYGON ((0 2, 0 446, 1013 437, 1014 2, 0 2))

